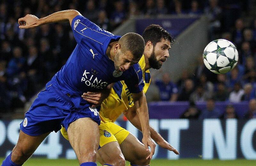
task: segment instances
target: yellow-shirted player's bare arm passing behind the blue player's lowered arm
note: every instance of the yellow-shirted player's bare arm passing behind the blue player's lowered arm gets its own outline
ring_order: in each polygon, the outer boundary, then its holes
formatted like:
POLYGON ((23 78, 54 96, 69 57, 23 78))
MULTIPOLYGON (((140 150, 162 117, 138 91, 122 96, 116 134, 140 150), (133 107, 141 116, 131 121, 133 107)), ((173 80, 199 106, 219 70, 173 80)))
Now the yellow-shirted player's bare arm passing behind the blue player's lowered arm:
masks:
MULTIPOLYGON (((129 108, 128 110, 123 112, 126 118, 132 123, 133 126, 135 126, 137 129, 141 131, 141 126, 140 126, 140 119, 134 110, 134 107, 129 108)), ((176 155, 179 155, 180 153, 178 150, 173 148, 167 141, 164 140, 164 138, 156 132, 156 130, 152 127, 150 127, 150 136, 151 138, 156 141, 156 143, 165 149, 168 149, 170 151, 173 151, 176 155)))

